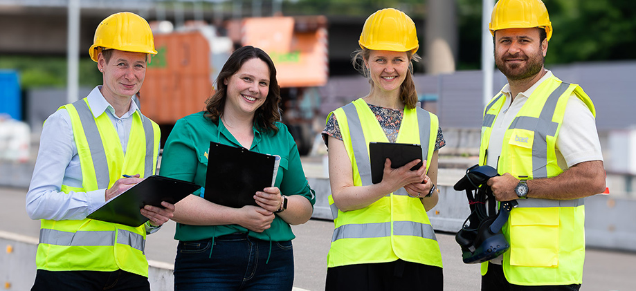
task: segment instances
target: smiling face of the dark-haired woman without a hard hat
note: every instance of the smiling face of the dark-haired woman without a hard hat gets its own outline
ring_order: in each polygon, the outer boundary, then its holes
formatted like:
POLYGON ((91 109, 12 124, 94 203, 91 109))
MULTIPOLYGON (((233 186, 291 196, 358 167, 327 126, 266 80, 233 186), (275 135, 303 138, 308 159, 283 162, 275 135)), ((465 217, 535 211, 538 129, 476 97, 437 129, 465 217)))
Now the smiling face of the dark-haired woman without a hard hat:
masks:
POLYGON ((248 59, 224 84, 228 86, 224 114, 254 115, 269 93, 269 66, 259 58, 248 59))

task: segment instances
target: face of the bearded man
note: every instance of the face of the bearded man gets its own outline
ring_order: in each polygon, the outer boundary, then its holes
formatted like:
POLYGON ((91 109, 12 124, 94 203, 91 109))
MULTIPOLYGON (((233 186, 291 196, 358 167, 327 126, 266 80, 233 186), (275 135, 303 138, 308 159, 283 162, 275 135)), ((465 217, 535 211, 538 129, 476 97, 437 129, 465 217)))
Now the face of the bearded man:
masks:
POLYGON ((547 40, 538 28, 508 28, 495 32, 495 64, 509 80, 529 79, 543 70, 547 40))

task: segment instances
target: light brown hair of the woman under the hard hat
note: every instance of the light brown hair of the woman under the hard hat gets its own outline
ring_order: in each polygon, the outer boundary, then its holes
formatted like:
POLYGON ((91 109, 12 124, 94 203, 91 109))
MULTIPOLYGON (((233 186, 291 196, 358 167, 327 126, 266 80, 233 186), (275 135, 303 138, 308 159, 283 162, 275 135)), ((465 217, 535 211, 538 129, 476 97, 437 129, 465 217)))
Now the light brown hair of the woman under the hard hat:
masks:
MULTIPOLYGON (((371 79, 370 72, 364 65, 364 62, 369 59, 370 55, 371 50, 368 48, 355 50, 354 53, 352 53, 351 62, 356 71, 369 79, 371 91, 373 91, 373 79, 371 79)), ((404 82, 400 84, 400 100, 404 102, 408 109, 413 109, 417 104, 417 91, 415 91, 415 82, 413 81, 413 62, 419 62, 421 57, 412 51, 406 52, 406 57, 408 59, 408 70, 406 71, 404 82)))

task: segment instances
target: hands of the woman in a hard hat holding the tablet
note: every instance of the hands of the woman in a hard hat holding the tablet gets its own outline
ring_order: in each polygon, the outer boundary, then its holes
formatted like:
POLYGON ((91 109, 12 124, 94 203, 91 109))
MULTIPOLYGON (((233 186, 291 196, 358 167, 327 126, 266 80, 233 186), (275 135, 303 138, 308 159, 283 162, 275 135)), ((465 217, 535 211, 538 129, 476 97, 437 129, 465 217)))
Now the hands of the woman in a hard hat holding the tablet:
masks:
MULTIPOLYGON (((426 165, 426 160, 422 162, 423 165, 422 167, 419 167, 419 169, 415 171, 410 170, 420 161, 421 160, 419 159, 412 160, 402 167, 392 169, 391 160, 386 159, 386 161, 384 162, 384 173, 382 176, 382 182, 380 182, 386 189, 385 193, 392 193, 406 185, 421 183, 421 181, 424 181, 424 179, 427 178, 426 167, 424 166, 426 165)), ((426 193, 428 194, 428 192, 426 193)), ((417 195, 417 191, 415 192, 415 195, 417 195)))

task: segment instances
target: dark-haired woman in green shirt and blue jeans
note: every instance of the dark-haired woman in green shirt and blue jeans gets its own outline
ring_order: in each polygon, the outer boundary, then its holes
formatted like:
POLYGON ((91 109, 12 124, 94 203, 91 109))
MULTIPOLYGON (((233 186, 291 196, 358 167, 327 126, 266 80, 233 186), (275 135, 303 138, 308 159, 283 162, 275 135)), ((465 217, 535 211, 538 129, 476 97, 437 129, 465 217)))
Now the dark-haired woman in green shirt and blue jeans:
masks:
POLYGON ((174 290, 291 290, 290 225, 311 218, 315 197, 296 142, 278 122, 276 69, 263 50, 244 46, 230 55, 216 86, 206 111, 176 122, 161 175, 206 185, 210 141, 278 155, 280 166, 275 187, 254 194, 258 206, 226 207, 198 195, 175 205, 174 290))

